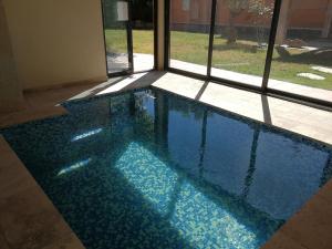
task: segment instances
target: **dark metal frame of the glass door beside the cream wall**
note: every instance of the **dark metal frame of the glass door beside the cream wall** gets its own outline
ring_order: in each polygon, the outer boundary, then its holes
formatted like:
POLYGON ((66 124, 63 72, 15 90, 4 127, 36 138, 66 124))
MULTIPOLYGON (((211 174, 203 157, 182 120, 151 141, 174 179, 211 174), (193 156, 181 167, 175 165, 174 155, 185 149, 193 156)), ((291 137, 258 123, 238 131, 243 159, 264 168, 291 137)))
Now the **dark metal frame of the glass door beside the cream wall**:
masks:
MULTIPOLYGON (((108 73, 107 69, 107 50, 106 50, 106 37, 105 37, 105 14, 104 14, 104 0, 101 0, 101 9, 102 9, 102 28, 103 28, 103 38, 104 38, 104 50, 105 50, 105 65, 106 65, 106 75, 107 77, 116 77, 116 76, 125 76, 134 73, 134 51, 133 51, 133 27, 132 27, 132 11, 133 11, 133 2, 132 0, 127 0, 128 2, 128 23, 127 23, 127 49, 128 49, 128 63, 129 68, 124 71, 108 73)), ((137 71, 135 73, 151 72, 157 69, 158 62, 158 0, 153 0, 153 32, 154 32, 154 65, 151 70, 137 71)))

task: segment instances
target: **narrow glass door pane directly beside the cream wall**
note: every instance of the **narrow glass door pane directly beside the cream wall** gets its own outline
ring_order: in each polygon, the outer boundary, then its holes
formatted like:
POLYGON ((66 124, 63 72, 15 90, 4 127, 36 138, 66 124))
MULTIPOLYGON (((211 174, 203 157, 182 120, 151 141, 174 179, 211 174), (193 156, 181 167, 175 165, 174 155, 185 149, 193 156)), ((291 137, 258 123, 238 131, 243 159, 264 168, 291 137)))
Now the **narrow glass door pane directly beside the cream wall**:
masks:
POLYGON ((129 0, 103 0, 108 75, 133 72, 133 37, 129 0))

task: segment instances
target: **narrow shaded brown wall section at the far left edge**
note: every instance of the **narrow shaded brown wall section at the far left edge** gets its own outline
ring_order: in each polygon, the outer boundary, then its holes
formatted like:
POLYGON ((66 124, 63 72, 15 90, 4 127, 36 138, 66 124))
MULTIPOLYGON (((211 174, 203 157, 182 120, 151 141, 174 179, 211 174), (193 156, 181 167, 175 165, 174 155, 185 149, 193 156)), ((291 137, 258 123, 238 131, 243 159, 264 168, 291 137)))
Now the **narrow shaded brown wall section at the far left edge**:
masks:
POLYGON ((2 0, 0 0, 0 112, 23 106, 2 0))

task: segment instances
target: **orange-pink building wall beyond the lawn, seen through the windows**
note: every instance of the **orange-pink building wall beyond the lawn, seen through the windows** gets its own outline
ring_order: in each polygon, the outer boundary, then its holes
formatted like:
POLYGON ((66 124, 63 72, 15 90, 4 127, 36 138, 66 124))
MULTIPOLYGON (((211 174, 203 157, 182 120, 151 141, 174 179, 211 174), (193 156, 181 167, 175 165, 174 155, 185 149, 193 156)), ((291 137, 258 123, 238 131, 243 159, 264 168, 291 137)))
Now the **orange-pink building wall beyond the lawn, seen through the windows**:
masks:
MULTIPOLYGON (((227 25, 229 11, 225 1, 218 0, 216 24, 227 25)), ((273 4, 274 0, 266 0, 273 4)), ((292 0, 289 12, 289 29, 322 30, 326 17, 329 0, 292 0)), ((210 22, 211 0, 170 0, 170 23, 208 25, 210 22), (186 9, 186 3, 189 6, 186 9), (189 4, 188 4, 189 3, 189 4)), ((270 19, 259 20, 260 25, 269 27, 270 19)), ((256 25, 253 15, 243 11, 235 20, 235 25, 256 25)))

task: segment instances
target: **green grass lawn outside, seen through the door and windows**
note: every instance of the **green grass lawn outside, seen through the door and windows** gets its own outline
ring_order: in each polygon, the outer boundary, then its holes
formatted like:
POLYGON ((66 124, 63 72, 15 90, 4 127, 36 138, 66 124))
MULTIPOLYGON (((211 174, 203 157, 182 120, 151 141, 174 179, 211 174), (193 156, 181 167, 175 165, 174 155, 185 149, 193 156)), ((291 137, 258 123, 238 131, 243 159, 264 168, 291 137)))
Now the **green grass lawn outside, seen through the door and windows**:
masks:
MULTIPOLYGON (((113 52, 126 51, 124 31, 106 30, 106 44, 113 52)), ((153 31, 133 31, 134 53, 153 53, 153 31)), ((212 66, 239 73, 261 76, 263 73, 266 50, 256 49, 256 42, 238 40, 228 45, 226 40, 215 38, 212 66)), ((332 90, 332 74, 312 70, 313 65, 332 68, 332 49, 323 54, 307 50, 289 49, 289 56, 281 58, 274 50, 271 79, 297 84, 332 90), (317 81, 297 76, 298 73, 314 73, 325 80, 317 81)), ((208 34, 172 31, 170 58, 206 65, 208 53, 208 34)))

